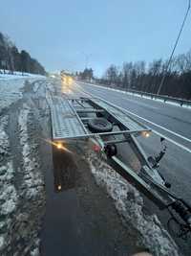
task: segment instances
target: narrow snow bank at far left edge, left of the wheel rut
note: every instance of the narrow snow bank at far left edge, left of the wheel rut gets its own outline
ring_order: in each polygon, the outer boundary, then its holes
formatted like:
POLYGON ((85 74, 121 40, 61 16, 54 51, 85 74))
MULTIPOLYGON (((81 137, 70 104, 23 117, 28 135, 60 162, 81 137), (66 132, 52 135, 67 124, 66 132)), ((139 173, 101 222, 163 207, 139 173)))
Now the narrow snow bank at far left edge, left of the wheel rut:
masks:
POLYGON ((6 161, 10 150, 9 137, 6 133, 7 126, 8 116, 4 116, 0 119, 0 251, 9 244, 8 232, 11 229, 11 215, 15 213, 18 203, 13 184, 12 161, 6 161))

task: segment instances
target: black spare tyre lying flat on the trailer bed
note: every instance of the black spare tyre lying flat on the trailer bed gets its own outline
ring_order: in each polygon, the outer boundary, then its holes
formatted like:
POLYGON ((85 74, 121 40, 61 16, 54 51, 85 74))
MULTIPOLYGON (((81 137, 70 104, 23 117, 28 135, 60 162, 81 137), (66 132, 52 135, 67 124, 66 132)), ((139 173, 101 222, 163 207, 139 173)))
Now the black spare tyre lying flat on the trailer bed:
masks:
POLYGON ((113 125, 105 118, 94 118, 88 122, 88 128, 93 132, 112 131, 113 125))

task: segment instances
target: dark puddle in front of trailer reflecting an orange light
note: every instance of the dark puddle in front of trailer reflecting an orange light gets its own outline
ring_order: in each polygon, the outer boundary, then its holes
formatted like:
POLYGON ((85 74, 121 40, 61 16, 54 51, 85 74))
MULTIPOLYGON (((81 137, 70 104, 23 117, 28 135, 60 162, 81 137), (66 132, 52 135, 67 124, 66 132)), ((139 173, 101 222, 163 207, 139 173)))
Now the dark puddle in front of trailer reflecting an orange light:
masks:
POLYGON ((77 225, 75 169, 70 153, 53 150, 46 172, 46 215, 41 233, 42 255, 81 255, 77 225))

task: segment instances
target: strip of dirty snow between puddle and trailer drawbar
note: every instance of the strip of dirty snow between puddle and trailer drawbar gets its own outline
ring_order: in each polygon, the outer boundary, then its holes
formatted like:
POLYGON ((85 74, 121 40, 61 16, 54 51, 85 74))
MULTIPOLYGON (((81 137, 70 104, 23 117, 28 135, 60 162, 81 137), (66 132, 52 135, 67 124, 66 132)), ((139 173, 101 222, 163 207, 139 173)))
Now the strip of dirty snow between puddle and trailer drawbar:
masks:
POLYGON ((88 161, 96 183, 105 188, 114 199, 119 215, 138 230, 142 243, 156 256, 178 256, 178 247, 168 232, 162 227, 156 215, 146 216, 142 212, 143 199, 138 191, 104 161, 97 158, 96 153, 89 151, 88 161))

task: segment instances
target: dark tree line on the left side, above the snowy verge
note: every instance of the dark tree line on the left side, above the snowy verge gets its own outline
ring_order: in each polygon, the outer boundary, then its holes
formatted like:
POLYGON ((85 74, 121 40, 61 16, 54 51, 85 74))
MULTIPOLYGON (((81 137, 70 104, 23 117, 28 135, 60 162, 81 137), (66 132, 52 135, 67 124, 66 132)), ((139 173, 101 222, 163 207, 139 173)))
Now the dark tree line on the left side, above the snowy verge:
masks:
POLYGON ((22 50, 19 52, 11 39, 0 33, 0 69, 1 72, 13 74, 14 71, 45 75, 44 67, 30 54, 22 50))

